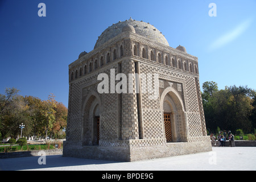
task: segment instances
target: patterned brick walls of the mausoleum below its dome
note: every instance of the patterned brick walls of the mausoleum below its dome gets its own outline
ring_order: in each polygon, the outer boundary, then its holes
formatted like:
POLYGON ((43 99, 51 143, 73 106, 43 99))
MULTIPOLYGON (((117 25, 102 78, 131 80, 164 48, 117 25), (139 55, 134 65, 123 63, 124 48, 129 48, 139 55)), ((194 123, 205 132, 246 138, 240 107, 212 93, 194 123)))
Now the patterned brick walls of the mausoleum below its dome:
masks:
MULTIPOLYGON (((71 63, 65 147, 82 148, 96 145, 98 156, 103 154, 99 151, 104 150, 104 154, 112 154, 115 151, 114 154, 118 154, 117 150, 123 149, 120 151, 126 152, 127 159, 136 159, 136 155, 139 156, 132 151, 133 147, 139 148, 138 151, 147 148, 145 154, 148 158, 154 158, 156 154, 159 156, 159 147, 171 154, 163 118, 163 98, 167 99, 166 96, 170 99, 169 106, 166 105, 166 107, 168 106, 168 114, 171 114, 172 142, 180 142, 176 145, 180 148, 185 145, 191 147, 190 142, 207 142, 209 137, 206 132, 198 74, 190 67, 185 68, 185 64, 177 68, 179 60, 181 63, 191 64, 192 68, 198 68, 195 56, 152 42, 134 32, 123 32, 71 63), (143 48, 146 49, 144 53, 143 48), (154 53, 152 61, 151 50, 154 53), (114 51, 117 51, 117 55, 114 55, 114 51), (107 62, 108 53, 110 59, 107 62), (104 57, 103 65, 99 61, 101 57, 104 57), (98 64, 94 65, 96 60, 98 64), (175 65, 172 65, 173 63, 175 65), (89 68, 89 65, 92 67, 89 68), (97 92, 97 85, 101 82, 97 80, 98 74, 106 73, 110 78, 110 69, 115 70, 115 75, 124 73, 127 76, 127 92, 132 90, 132 93, 99 94, 97 92), (71 73, 80 70, 82 75, 72 80, 71 73), (142 93, 135 93, 135 78, 132 78, 130 85, 128 84, 129 73, 138 72, 152 74, 152 79, 148 79, 146 75, 141 77, 141 82, 146 84, 146 87, 141 88, 142 93), (158 74, 157 79, 154 73, 158 74), (147 88, 148 85, 151 86, 151 92, 147 88), (98 145, 95 137, 98 133, 98 129, 95 128, 96 115, 93 115, 96 105, 100 108, 98 145), (112 147, 117 147, 117 150, 112 147)), ((118 82, 115 80, 115 85, 118 82)), ((92 151, 83 150, 82 152, 88 154, 92 151)), ((84 154, 75 155, 83 156, 84 154)))

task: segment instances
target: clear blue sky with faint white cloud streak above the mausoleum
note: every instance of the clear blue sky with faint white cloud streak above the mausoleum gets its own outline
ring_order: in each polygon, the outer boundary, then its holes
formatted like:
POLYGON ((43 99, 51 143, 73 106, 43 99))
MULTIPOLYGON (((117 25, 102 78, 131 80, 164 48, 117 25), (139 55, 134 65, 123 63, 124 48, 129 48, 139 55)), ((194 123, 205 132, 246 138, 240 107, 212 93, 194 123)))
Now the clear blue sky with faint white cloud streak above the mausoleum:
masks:
POLYGON ((171 47, 199 58, 200 85, 256 89, 256 1, 68 1, 0 0, 0 93, 15 87, 22 96, 68 106, 68 65, 92 51, 98 36, 119 20, 153 24, 171 47), (46 4, 46 17, 38 4, 46 4), (217 16, 210 17, 210 3, 217 16))

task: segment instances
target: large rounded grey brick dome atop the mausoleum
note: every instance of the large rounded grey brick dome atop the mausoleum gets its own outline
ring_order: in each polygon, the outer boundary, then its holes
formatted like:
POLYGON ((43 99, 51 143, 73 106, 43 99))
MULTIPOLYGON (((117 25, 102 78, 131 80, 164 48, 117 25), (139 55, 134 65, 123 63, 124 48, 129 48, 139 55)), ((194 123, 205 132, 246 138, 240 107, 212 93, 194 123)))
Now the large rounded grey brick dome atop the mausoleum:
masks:
POLYGON ((164 44, 169 46, 166 38, 164 38, 162 32, 157 30, 154 26, 146 22, 139 22, 133 19, 125 20, 124 22, 118 22, 108 27, 101 36, 98 37, 98 40, 94 46, 94 49, 101 46, 109 39, 114 38, 115 36, 121 34, 124 31, 130 31, 138 35, 142 35, 145 38, 150 39, 152 42, 164 44))

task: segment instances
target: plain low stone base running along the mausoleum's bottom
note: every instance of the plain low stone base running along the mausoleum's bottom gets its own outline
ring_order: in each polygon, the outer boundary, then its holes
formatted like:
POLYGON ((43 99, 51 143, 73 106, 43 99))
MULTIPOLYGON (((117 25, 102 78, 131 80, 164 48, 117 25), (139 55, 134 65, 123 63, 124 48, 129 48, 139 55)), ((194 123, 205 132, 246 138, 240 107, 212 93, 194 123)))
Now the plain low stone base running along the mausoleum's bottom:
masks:
POLYGON ((209 140, 205 140, 201 142, 174 142, 154 146, 64 146, 63 156, 132 162, 209 151, 212 151, 212 144, 209 140))

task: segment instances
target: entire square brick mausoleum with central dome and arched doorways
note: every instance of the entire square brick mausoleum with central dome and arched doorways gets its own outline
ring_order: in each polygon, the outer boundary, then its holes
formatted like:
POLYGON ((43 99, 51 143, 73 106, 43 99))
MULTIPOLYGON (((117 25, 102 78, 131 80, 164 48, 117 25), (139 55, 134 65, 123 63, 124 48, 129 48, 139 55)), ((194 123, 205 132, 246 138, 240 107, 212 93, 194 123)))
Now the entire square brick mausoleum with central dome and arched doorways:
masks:
POLYGON ((69 65, 66 134, 63 156, 78 158, 134 161, 211 151, 197 57, 170 47, 146 22, 130 18, 106 28, 93 51, 69 65), (127 93, 111 93, 113 71, 127 76, 127 93), (98 92, 100 73, 109 76, 109 93, 98 92))

